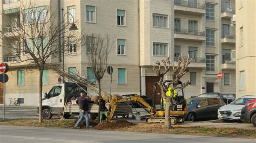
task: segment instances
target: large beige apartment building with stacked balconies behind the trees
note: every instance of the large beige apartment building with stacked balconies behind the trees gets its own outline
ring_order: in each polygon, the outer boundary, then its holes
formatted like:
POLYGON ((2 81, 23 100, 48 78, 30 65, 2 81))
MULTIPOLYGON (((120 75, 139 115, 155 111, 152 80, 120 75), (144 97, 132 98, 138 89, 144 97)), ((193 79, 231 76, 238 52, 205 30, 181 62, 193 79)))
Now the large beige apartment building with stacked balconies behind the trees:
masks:
MULTIPOLYGON (((7 25, 3 19, 21 20, 15 16, 19 15, 24 1, 1 1, 1 30, 9 32, 13 26, 18 26, 7 25)), ((181 79, 191 81, 185 89, 186 98, 205 92, 235 93, 235 62, 230 58, 235 48, 235 27, 230 26, 235 14, 234 0, 37 0, 36 5, 50 5, 55 8, 52 12, 59 16, 60 9, 64 8, 64 12, 71 13, 78 22, 78 33, 111 36, 115 45, 109 56, 109 65, 113 67, 112 94, 136 93, 152 97, 157 81, 152 65, 168 56, 177 65, 179 55, 193 58, 190 72, 181 79), (219 72, 223 73, 221 80, 217 77, 219 72)), ((27 71, 25 63, 16 63, 18 57, 8 51, 8 47, 1 45, 0 48, 0 60, 10 66, 5 103, 9 103, 8 98, 20 98, 22 105, 37 105, 37 70, 27 71)), ((86 46, 77 49, 75 56, 65 57, 65 67, 82 76, 91 74, 85 52, 86 46)), ((58 63, 62 65, 61 61, 58 63)), ((50 69, 45 71, 43 92, 48 92, 58 83, 59 76, 50 69)), ((170 74, 165 79, 170 80, 170 74)), ((102 87, 110 91, 107 73, 102 87)), ((157 102, 159 99, 158 90, 157 102)))

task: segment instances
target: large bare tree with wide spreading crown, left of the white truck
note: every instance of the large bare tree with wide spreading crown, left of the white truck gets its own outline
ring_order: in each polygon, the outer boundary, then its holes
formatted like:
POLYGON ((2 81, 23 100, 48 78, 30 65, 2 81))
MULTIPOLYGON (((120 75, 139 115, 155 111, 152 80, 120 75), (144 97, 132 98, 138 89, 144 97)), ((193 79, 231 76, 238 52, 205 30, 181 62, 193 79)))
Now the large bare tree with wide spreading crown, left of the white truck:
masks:
POLYGON ((44 69, 48 67, 48 63, 57 66, 61 53, 71 55, 70 52, 77 50, 80 45, 80 37, 69 30, 70 23, 62 25, 55 13, 58 12, 49 6, 38 7, 36 2, 21 3, 20 12, 17 13, 21 20, 9 22, 11 30, 0 31, 6 53, 11 51, 18 55, 14 62, 25 63, 27 68, 36 68, 39 71, 39 122, 42 122, 44 69), (62 35, 64 42, 60 42, 62 35), (72 46, 70 42, 73 43, 72 46))

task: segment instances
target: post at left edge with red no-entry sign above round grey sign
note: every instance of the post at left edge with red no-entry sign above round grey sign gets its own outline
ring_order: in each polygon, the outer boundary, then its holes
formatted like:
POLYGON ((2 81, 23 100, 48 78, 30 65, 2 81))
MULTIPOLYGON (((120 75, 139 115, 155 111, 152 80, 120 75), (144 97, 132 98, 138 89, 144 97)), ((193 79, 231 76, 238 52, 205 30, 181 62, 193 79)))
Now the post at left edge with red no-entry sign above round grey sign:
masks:
POLYGON ((8 66, 7 63, 1 63, 0 64, 0 72, 3 73, 3 81, 1 81, 1 82, 3 82, 3 104, 4 104, 4 106, 3 106, 3 114, 4 114, 3 115, 3 120, 5 120, 5 98, 4 98, 5 97, 5 82, 8 81, 8 76, 5 75, 5 73, 8 71, 8 69, 9 69, 9 66, 8 66), (7 77, 7 79, 5 78, 5 76, 7 77))

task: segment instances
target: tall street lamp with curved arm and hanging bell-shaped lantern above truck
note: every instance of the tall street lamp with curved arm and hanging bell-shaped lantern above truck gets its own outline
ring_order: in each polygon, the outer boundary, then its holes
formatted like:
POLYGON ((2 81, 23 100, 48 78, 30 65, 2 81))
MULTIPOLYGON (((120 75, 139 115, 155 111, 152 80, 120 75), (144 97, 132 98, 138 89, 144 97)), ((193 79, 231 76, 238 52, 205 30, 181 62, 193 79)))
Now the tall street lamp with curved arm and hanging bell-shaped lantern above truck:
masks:
MULTIPOLYGON (((71 17, 72 17, 72 19, 73 19, 73 23, 71 24, 71 26, 70 26, 70 28, 69 28, 69 30, 78 30, 78 28, 77 28, 77 26, 76 26, 76 24, 74 23, 75 22, 75 19, 74 19, 74 17, 72 16, 72 14, 71 13, 69 13, 69 12, 66 12, 66 13, 64 13, 64 8, 62 8, 61 9, 62 10, 62 71, 63 71, 63 73, 65 72, 65 70, 64 70, 64 30, 65 30, 65 28, 64 28, 64 16, 66 15, 66 14, 68 14, 68 15, 70 15, 71 17)), ((62 75, 62 83, 65 83, 65 76, 64 76, 64 74, 62 75)))

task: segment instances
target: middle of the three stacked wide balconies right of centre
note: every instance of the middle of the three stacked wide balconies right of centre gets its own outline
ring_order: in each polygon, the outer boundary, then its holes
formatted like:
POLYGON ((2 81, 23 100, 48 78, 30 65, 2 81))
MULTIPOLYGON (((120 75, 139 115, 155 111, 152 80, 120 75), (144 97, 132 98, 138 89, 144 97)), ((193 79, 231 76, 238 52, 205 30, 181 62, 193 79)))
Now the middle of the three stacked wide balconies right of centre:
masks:
POLYGON ((206 40, 205 31, 186 30, 186 29, 174 30, 174 38, 190 39, 190 40, 198 40, 198 41, 206 40))

